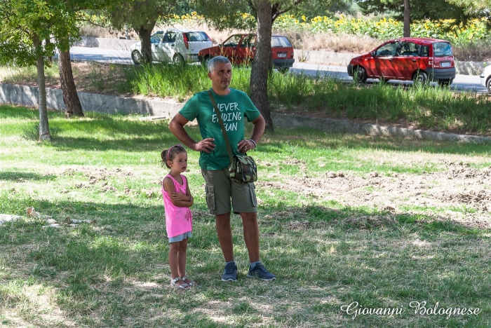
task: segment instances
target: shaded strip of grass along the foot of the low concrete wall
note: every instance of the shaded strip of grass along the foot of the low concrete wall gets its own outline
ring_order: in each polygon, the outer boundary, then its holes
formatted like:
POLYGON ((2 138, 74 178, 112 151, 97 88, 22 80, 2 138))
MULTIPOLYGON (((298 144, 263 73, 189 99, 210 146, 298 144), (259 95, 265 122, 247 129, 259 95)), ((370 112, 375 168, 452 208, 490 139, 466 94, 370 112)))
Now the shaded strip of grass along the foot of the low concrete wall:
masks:
MULTIPOLYGON (((37 119, 36 111, 23 107, 0 107, 0 117, 37 119)), ((127 116, 87 113, 86 118, 67 119, 60 112, 49 112, 50 126, 58 132, 52 145, 60 150, 100 149, 129 150, 154 149, 155 144, 175 144, 177 139, 168 130, 164 121, 149 122, 128 120, 127 116), (73 135, 80 135, 74 137, 73 135)), ((250 135, 250 124, 245 135, 250 135)), ((199 128, 187 127, 195 140, 201 139, 199 128)), ((372 137, 327 133, 310 128, 276 129, 266 133, 258 151, 280 152, 285 144, 318 147, 325 149, 382 149, 387 151, 419 151, 423 153, 455 153, 490 155, 489 146, 470 143, 436 142, 431 140, 372 137)))

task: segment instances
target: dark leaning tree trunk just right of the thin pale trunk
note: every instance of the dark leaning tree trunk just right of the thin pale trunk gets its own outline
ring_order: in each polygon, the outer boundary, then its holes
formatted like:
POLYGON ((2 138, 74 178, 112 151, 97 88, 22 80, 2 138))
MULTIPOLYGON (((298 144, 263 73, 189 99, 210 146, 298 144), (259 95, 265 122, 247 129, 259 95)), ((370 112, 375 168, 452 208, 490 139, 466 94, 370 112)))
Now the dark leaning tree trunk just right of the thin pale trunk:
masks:
POLYGON ((72 72, 72 62, 70 62, 70 50, 58 51, 58 70, 60 71, 60 83, 62 86, 63 102, 67 115, 83 116, 82 105, 79 95, 76 93, 76 86, 72 72))

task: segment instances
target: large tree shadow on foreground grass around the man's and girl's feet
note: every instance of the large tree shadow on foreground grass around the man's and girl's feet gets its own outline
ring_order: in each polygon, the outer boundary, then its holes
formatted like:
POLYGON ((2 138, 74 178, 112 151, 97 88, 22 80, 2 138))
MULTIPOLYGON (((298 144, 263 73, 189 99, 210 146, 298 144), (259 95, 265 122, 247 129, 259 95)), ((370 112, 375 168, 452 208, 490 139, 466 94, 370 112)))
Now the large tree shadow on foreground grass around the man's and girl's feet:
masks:
MULTIPOLYGON (((325 292, 339 293, 338 297, 343 301, 362 297, 358 301, 363 301, 364 305, 385 306, 381 298, 389 297, 389 294, 398 288, 392 286, 396 279, 407 279, 406 281, 410 282, 403 287, 403 290, 396 290, 395 294, 398 295, 396 298, 430 299, 437 292, 424 291, 421 285, 426 281, 437 279, 440 273, 425 271, 423 278, 416 279, 412 277, 414 273, 404 272, 402 264, 396 262, 394 262, 396 268, 386 272, 387 269, 379 264, 382 259, 369 255, 365 258, 365 254, 359 253, 368 247, 367 240, 380 242, 379 239, 382 239, 383 244, 383 239, 386 238, 389 243, 397 242, 406 235, 405 231, 401 231, 401 224, 409 226, 410 233, 417 231, 423 234, 427 231, 438 238, 446 233, 453 235, 454 239, 468 240, 483 236, 485 233, 455 222, 438 221, 438 218, 431 216, 377 214, 353 207, 331 208, 316 205, 268 207, 260 209, 260 231, 264 242, 262 252, 267 254, 265 261, 269 263, 272 271, 281 276, 281 280, 278 281, 282 282, 264 288, 264 282, 246 280, 243 273, 240 273, 241 281, 237 282, 236 294, 231 295, 229 285, 218 282, 220 279, 217 278, 220 274, 217 272, 222 271, 223 267, 214 218, 206 214, 203 203, 197 203, 193 209, 194 231, 189 244, 191 250, 188 258, 190 271, 197 278, 201 278, 201 287, 190 291, 189 297, 184 297, 182 293, 168 286, 168 243, 161 206, 77 201, 51 203, 32 198, 15 198, 6 192, 0 193, 1 213, 22 209, 9 213, 20 214, 30 205, 52 215, 53 218, 65 217, 69 212, 73 218, 97 220, 95 226, 81 224, 77 228, 41 228, 44 222, 35 219, 8 222, 0 226, 0 247, 5 252, 9 252, 14 261, 11 264, 4 262, 2 270, 11 272, 13 280, 29 280, 31 285, 39 283, 56 288, 57 306, 72 320, 83 322, 88 327, 116 327, 127 325, 129 322, 132 326, 149 327, 149 322, 152 322, 152 327, 191 327, 187 324, 191 324, 193 320, 200 323, 199 326, 193 327, 220 327, 213 317, 217 315, 227 317, 223 312, 227 312, 229 303, 240 301, 241 297, 251 293, 264 294, 267 296, 265 299, 279 298, 278 304, 266 304, 265 301, 264 308, 258 310, 259 316, 271 317, 271 313, 267 311, 262 313, 262 311, 272 306, 274 311, 278 312, 281 311, 281 306, 285 306, 283 303, 297 302, 295 299, 288 300, 288 296, 283 295, 281 286, 285 285, 291 290, 296 290, 299 288, 299 283, 304 291, 299 291, 302 308, 307 306, 310 310, 313 310, 312 306, 319 306, 319 298, 328 297, 327 294, 323 294, 325 292), (327 237, 325 233, 328 233, 327 237), (325 238, 340 242, 332 245, 340 245, 337 252, 342 254, 335 253, 326 257, 326 254, 330 253, 324 247, 328 245, 322 246, 320 242, 325 238), (293 240, 297 240, 297 243, 292 243, 293 240), (20 257, 19 252, 25 254, 20 257), (356 266, 351 266, 351 261, 355 259, 358 261, 356 266), (319 261, 321 264, 318 264, 319 261), (305 263, 309 264, 304 268, 308 271, 309 284, 307 285, 301 283, 307 279, 304 276, 307 273, 298 270, 298 266, 305 263), (316 265, 311 265, 312 263, 316 265), (398 266, 401 267, 398 269, 398 266), (18 268, 22 268, 22 271, 18 271, 18 268), (310 283, 312 278, 315 281, 313 285, 310 283), (369 286, 370 279, 380 279, 383 282, 383 284, 379 282, 380 285, 388 286, 382 286, 387 289, 385 293, 388 294, 370 292, 370 290, 362 294, 354 292, 369 286), (336 286, 339 284, 344 289, 337 289, 336 286), (214 303, 222 304, 223 308, 211 306, 210 309, 203 310, 214 303), (193 311, 191 317, 187 315, 189 311, 193 311), (166 315, 155 317, 155 313, 166 315), (138 322, 138 320, 144 321, 138 322)), ((236 253, 239 258, 243 258, 245 250, 241 245, 243 243, 241 233, 238 232, 241 231, 240 219, 234 216, 232 222, 236 231, 234 235, 234 245, 238 247, 236 253)), ((400 257, 397 261, 410 256, 403 250, 391 252, 393 252, 389 254, 391 257, 400 257)), ((449 260, 455 261, 455 265, 460 266, 457 258, 449 260)), ((428 261, 430 260, 426 259, 424 264, 428 261)), ((422 265, 423 262, 417 263, 415 266, 422 265)), ((447 284, 446 280, 440 284, 444 290, 438 291, 442 293, 442 297, 444 293, 448 293, 445 284, 447 284)), ((464 289, 466 286, 471 285, 452 286, 456 293, 455 299, 462 295, 483 299, 483 295, 487 295, 487 288, 484 290, 483 286, 464 289)), ((390 297, 392 299, 394 295, 391 294, 390 297)), ((15 303, 15 299, 11 299, 10 302, 10 306, 14 308, 20 306, 15 303)), ((262 303, 261 299, 255 301, 259 306, 262 306, 262 303)), ((324 314, 339 312, 335 304, 330 306, 325 304, 321 310, 324 314)), ((234 311, 247 313, 248 307, 236 307, 234 311)), ((471 322, 473 319, 471 317, 471 322)), ((275 317, 275 320, 282 319, 275 317)), ((434 323, 431 322, 433 327, 436 327, 434 323)), ((223 327, 229 326, 223 325, 223 327)), ((370 324, 365 327, 370 327, 370 324)), ((378 326, 375 324, 371 327, 389 326, 378 322, 378 326)), ((419 327, 431 327, 431 325, 419 327)))

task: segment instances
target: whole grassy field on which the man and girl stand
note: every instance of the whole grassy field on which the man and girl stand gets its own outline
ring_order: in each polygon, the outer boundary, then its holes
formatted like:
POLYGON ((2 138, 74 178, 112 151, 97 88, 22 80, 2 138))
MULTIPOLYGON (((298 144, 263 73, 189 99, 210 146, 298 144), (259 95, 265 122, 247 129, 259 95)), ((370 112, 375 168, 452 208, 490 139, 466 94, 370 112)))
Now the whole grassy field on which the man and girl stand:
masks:
POLYGON ((264 135, 250 155, 261 257, 278 279, 245 277, 235 216, 236 283, 220 280, 190 151, 187 273, 199 287, 179 292, 159 184, 159 154, 177 141, 165 121, 138 118, 50 112, 53 140, 39 143, 36 111, 0 107, 0 214, 22 216, 0 225, 1 327, 490 327, 489 146, 264 135), (95 223, 43 228, 29 206, 95 223))

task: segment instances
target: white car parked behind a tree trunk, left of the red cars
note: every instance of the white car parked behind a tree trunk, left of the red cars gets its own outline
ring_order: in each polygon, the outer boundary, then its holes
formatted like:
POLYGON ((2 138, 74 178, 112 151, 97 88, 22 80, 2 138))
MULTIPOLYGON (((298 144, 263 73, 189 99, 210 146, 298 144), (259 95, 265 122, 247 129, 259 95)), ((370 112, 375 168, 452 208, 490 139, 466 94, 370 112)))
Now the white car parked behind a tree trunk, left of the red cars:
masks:
MULTIPOLYGON (((203 31, 191 29, 168 29, 152 34, 152 60, 154 62, 197 62, 199 50, 210 48, 213 43, 203 31)), ((142 42, 130 46, 131 59, 142 62, 142 42)))

